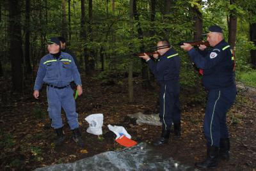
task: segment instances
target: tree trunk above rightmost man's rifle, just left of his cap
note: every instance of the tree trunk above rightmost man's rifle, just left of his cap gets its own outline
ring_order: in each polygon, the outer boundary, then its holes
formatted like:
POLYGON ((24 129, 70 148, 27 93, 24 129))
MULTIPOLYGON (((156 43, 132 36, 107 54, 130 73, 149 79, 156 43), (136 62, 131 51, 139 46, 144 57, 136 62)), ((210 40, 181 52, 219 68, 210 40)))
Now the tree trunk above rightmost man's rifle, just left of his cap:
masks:
MULTIPOLYGON (((198 2, 202 3, 202 1, 198 2)), ((203 33, 203 16, 200 10, 198 10, 198 6, 193 7, 194 11, 194 20, 195 20, 195 32, 194 32, 194 40, 199 40, 203 33)))

